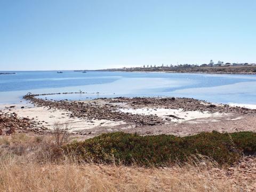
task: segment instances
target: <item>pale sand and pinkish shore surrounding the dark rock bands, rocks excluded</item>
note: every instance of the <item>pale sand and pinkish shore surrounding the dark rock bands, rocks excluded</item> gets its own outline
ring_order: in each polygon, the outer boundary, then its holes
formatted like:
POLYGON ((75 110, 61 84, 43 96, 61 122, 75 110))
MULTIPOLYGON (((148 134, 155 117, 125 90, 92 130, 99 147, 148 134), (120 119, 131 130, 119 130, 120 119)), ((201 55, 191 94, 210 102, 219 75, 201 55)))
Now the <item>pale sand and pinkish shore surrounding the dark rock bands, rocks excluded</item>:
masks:
MULTIPOLYGON (((72 116, 69 110, 58 108, 49 108, 44 106, 33 106, 27 103, 22 106, 0 105, 2 113, 15 113, 19 118, 29 118, 36 122, 38 127, 46 127, 53 130, 55 124, 63 124, 69 128, 71 133, 81 134, 85 137, 94 137, 101 133, 124 131, 129 133, 139 133, 141 135, 151 134, 174 134, 179 136, 196 134, 199 132, 236 132, 236 131, 256 131, 256 117, 252 114, 236 114, 212 112, 207 110, 184 110, 182 108, 163 108, 162 105, 156 107, 143 105, 130 105, 127 102, 111 103, 109 100, 91 100, 85 103, 93 103, 93 106, 115 106, 115 111, 123 113, 126 116, 133 117, 140 115, 145 117, 157 117, 161 124, 141 125, 126 122, 125 119, 117 121, 116 119, 84 118, 72 116), (95 105, 96 103, 96 105, 95 105), (71 117, 70 117, 71 116, 71 117)), ((205 103, 203 103, 205 105, 205 103)), ((127 119, 126 119, 127 120, 127 119)))

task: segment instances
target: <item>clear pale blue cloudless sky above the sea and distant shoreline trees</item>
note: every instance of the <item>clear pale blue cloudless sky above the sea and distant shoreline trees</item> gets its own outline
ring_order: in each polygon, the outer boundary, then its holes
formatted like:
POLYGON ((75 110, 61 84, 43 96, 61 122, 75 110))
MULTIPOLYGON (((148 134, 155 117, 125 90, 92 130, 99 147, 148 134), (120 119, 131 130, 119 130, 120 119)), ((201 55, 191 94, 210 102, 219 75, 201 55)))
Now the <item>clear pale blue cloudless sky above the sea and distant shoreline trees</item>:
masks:
POLYGON ((0 70, 256 62, 255 10, 255 0, 0 0, 0 70))

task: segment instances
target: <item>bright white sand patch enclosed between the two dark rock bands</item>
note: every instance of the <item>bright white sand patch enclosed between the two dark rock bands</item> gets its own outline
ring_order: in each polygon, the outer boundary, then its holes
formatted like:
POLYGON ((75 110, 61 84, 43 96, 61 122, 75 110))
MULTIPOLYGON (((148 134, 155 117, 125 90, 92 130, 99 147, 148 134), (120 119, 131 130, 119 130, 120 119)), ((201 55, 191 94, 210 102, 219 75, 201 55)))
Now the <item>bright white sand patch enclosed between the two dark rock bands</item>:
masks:
POLYGON ((209 111, 184 111, 183 109, 164 109, 164 108, 140 108, 140 109, 119 109, 123 113, 140 114, 140 115, 156 115, 163 119, 169 118, 171 122, 181 123, 198 118, 220 117, 224 114, 210 113, 209 111), (179 117, 169 117, 168 115, 174 115, 179 117))

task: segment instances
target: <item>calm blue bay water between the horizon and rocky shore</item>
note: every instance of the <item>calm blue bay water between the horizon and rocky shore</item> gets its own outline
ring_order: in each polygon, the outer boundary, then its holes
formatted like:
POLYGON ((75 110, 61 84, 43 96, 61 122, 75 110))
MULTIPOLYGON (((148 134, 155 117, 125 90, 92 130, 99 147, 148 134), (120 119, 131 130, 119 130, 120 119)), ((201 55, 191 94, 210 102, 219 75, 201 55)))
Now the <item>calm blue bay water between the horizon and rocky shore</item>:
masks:
POLYGON ((218 103, 256 105, 256 75, 122 73, 88 71, 17 71, 0 75, 0 102, 16 103, 28 92, 87 94, 50 95, 49 99, 170 96, 218 103), (96 94, 96 92, 99 92, 96 94))

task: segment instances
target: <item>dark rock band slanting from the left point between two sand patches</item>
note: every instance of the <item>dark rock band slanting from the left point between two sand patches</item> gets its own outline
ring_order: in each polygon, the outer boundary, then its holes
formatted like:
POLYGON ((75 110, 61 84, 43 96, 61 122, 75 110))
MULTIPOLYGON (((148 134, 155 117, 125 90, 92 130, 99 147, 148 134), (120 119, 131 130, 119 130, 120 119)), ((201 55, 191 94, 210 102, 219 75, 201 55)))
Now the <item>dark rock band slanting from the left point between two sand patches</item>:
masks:
MULTIPOLYGON (((45 95, 45 94, 44 94, 45 95)), ((111 121, 124 121, 127 124, 142 125, 161 125, 164 124, 156 115, 144 116, 137 114, 122 113, 115 105, 97 102, 78 102, 78 101, 51 101, 36 98, 38 95, 28 94, 25 99, 33 102, 36 106, 45 106, 50 109, 61 109, 71 111, 70 117, 86 119, 107 119, 111 121)))

